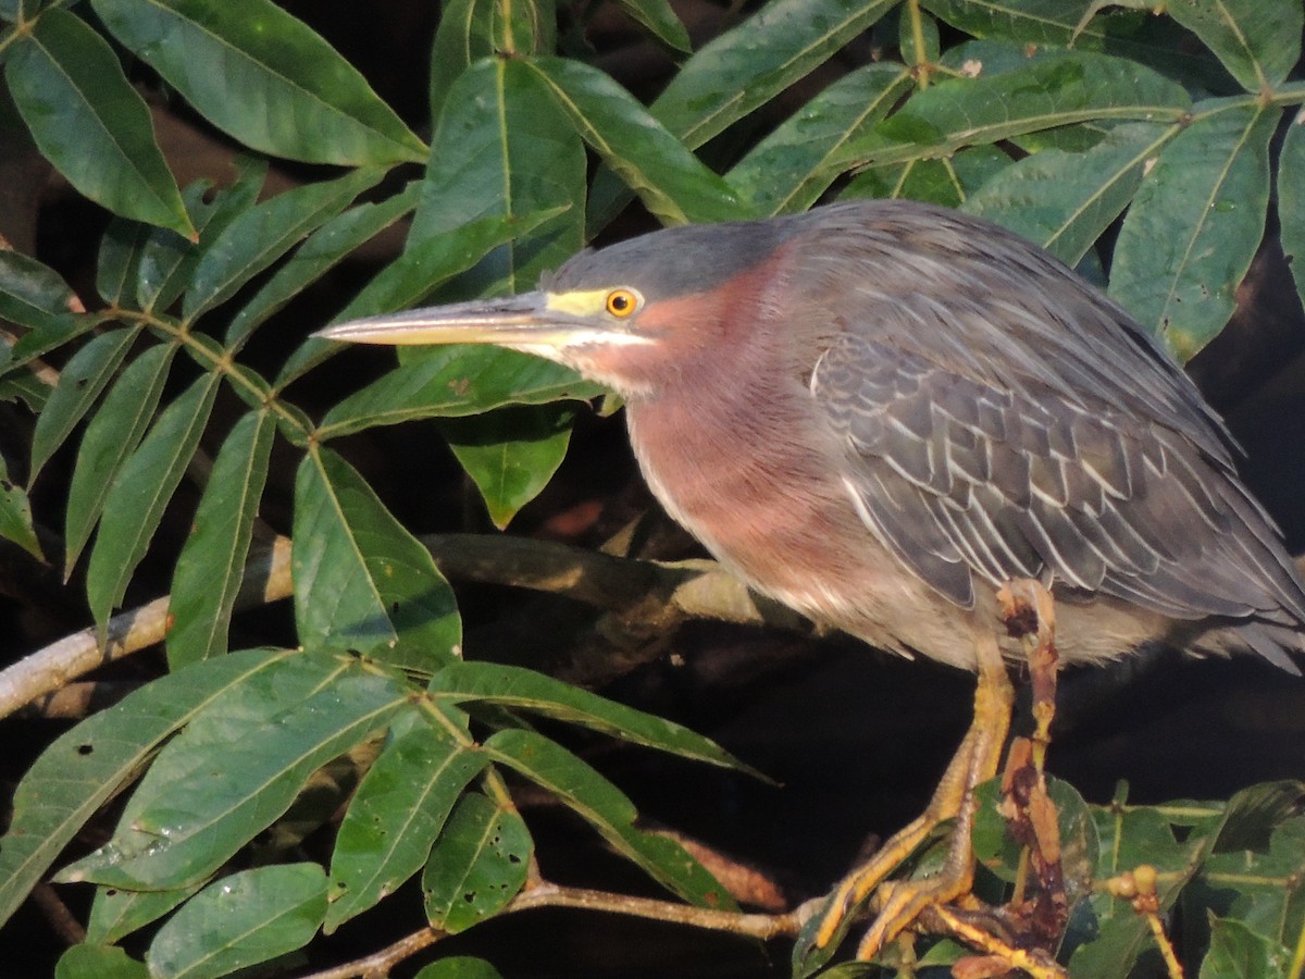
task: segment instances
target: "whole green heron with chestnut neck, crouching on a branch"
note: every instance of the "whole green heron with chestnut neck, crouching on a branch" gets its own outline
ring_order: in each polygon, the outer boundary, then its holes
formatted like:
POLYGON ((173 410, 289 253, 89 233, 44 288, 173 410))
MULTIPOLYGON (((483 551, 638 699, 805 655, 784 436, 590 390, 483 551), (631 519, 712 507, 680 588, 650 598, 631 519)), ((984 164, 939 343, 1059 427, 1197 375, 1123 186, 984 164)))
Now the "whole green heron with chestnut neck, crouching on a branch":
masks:
POLYGON ((968 889, 962 829, 1010 722, 1007 582, 1051 591, 1064 662, 1169 644, 1297 672, 1305 649, 1305 589, 1197 388, 1124 309, 972 217, 850 201, 667 228, 530 294, 321 335, 573 367, 625 398, 654 495, 750 586, 979 674, 928 809, 840 885, 817 944, 941 820, 946 868, 885 888, 861 956, 968 889))

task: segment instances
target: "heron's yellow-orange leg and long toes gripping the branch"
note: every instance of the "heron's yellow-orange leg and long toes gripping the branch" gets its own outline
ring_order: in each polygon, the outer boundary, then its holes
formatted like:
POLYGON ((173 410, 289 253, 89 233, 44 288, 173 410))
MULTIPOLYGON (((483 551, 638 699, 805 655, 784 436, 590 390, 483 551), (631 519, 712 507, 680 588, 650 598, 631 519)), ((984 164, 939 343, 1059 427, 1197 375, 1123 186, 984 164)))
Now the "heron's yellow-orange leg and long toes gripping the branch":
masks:
POLYGON ((954 901, 968 893, 974 882, 971 830, 975 815, 975 786, 997 774, 1001 748, 1010 728, 1014 693, 994 636, 983 634, 976 642, 979 684, 975 689, 975 715, 970 731, 957 751, 924 813, 889 839, 865 864, 839 884, 825 919, 816 933, 816 946, 825 948, 840 929, 848 912, 876 889, 878 915, 857 948, 857 958, 870 959, 908 928, 927 907, 954 901), (917 881, 885 878, 920 842, 946 820, 955 820, 951 846, 942 869, 917 881))

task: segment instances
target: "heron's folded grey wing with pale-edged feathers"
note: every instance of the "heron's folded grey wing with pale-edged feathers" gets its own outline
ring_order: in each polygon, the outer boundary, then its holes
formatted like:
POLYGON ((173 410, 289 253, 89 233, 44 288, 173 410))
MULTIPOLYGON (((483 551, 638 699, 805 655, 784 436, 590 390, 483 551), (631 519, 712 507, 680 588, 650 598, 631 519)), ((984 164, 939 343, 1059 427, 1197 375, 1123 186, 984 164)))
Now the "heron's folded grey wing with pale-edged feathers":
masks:
POLYGON ((1275 530, 1199 419, 1184 422, 1205 446, 1135 403, 1028 375, 1000 384, 864 332, 834 339, 810 389, 843 440, 865 523, 960 606, 977 574, 1176 619, 1301 616, 1275 530))

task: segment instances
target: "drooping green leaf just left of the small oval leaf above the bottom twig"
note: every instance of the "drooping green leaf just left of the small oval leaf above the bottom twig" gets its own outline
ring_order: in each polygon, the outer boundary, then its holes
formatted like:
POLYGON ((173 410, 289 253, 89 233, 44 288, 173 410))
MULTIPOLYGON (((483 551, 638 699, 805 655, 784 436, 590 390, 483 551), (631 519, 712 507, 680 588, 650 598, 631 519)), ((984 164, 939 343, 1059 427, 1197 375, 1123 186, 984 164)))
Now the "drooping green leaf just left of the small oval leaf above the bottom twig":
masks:
POLYGON ((363 777, 335 837, 335 899, 326 932, 368 910, 422 869, 458 796, 489 760, 470 735, 414 726, 363 777))

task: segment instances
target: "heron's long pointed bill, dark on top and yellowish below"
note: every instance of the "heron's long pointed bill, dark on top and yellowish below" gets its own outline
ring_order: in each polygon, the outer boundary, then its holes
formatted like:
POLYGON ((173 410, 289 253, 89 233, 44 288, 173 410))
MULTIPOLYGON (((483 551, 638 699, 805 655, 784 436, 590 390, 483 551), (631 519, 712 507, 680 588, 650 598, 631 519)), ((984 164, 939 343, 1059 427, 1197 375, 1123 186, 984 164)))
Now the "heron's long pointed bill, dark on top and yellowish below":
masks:
POLYGON ((315 335, 395 346, 492 343, 544 356, 579 345, 609 346, 634 339, 606 322, 560 308, 556 296, 540 291, 371 316, 315 335))

